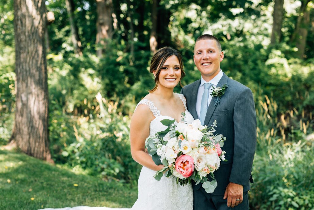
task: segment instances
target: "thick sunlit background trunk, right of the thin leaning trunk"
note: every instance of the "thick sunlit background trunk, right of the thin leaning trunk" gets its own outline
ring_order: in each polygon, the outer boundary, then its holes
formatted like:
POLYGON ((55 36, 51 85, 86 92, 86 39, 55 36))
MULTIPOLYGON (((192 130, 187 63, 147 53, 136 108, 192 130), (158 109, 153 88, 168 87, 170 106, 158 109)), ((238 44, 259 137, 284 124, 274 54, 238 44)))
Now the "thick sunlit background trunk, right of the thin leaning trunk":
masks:
POLYGON ((97 4, 97 56, 102 57, 103 50, 108 44, 107 40, 112 38, 112 0, 96 0, 97 4), (100 45, 100 46, 99 46, 100 45))

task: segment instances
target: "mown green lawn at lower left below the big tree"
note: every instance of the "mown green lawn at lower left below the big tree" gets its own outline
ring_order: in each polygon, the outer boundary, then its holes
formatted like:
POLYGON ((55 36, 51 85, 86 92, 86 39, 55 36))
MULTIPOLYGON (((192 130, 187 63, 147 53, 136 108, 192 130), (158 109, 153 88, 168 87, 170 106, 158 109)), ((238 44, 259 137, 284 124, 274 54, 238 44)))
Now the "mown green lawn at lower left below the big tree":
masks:
POLYGON ((82 205, 132 207, 137 199, 137 188, 76 174, 60 166, 1 148, 0 195, 1 210, 82 205))

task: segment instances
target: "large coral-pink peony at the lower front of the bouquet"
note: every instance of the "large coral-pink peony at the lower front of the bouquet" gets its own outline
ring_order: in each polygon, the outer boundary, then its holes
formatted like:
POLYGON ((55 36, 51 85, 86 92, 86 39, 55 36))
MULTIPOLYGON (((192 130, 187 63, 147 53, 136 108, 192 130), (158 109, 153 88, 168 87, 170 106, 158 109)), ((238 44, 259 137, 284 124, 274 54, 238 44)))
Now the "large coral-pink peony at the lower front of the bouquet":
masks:
POLYGON ((176 159, 176 171, 183 177, 190 177, 194 171, 194 159, 189 155, 180 155, 176 159))

